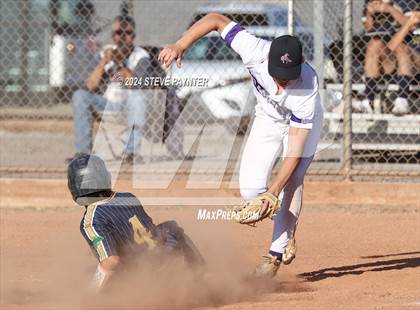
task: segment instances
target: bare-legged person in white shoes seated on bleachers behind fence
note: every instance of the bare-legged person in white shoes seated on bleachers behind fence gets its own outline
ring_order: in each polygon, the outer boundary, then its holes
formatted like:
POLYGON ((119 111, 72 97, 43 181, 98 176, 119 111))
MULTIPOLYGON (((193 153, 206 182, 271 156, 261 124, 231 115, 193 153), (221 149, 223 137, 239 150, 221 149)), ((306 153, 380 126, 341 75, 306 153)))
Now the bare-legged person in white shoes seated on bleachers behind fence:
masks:
POLYGON ((365 0, 364 27, 366 35, 370 37, 366 49, 365 99, 361 103, 364 112, 373 112, 373 100, 378 93, 378 81, 383 73, 391 74, 397 63, 396 82, 399 86, 398 97, 394 101, 393 113, 405 114, 409 111, 408 95, 410 81, 413 77, 413 62, 410 49, 406 42, 400 42, 393 51, 386 48, 386 44, 395 35, 398 28, 405 25, 411 11, 410 4, 417 5, 417 1, 395 0, 365 0))

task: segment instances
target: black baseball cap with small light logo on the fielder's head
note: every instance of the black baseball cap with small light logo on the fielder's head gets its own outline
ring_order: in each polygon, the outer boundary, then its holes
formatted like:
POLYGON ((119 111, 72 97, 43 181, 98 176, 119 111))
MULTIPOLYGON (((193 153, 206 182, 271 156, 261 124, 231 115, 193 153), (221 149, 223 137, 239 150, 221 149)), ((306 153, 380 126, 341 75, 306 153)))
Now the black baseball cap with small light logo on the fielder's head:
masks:
POLYGON ((300 76, 302 59, 302 44, 297 37, 275 38, 268 53, 268 73, 278 80, 296 80, 300 76))

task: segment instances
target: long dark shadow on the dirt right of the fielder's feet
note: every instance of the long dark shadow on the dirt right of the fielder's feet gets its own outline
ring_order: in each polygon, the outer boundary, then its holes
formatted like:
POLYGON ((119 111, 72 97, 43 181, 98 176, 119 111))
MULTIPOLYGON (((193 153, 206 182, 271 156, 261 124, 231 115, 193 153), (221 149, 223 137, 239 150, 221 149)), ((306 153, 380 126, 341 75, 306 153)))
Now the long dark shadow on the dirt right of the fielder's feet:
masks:
MULTIPOLYGON (((400 255, 403 255, 403 254, 400 254, 400 255)), ((394 255, 398 255, 398 254, 394 254, 394 255)), ((384 255, 384 257, 386 256, 387 255, 384 255)), ((419 266, 420 266, 420 257, 410 257, 410 258, 392 259, 392 260, 386 260, 386 261, 376 261, 372 263, 364 263, 364 264, 357 264, 357 265, 347 265, 347 266, 340 266, 340 267, 325 268, 325 269, 320 269, 317 271, 301 273, 299 274, 299 277, 304 278, 306 281, 316 282, 316 281, 321 281, 328 278, 339 278, 346 275, 361 275, 365 272, 401 270, 405 268, 416 268, 419 266)))

